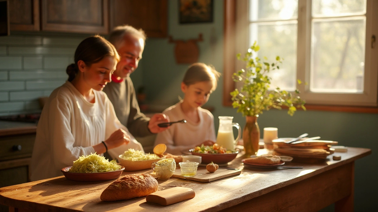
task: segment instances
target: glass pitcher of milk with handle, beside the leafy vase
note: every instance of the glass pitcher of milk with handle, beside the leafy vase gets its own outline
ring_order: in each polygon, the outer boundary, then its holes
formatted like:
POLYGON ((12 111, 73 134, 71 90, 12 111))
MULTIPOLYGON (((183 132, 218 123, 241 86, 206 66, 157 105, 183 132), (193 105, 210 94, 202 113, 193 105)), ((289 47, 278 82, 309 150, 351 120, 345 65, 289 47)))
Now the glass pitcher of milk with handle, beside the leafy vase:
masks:
POLYGON ((223 146, 227 150, 235 150, 235 145, 239 141, 241 129, 238 123, 232 123, 232 116, 219 116, 219 129, 217 135, 217 144, 223 146), (238 129, 236 140, 234 139, 234 131, 232 127, 238 129))

